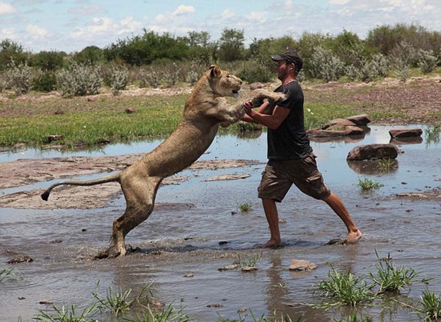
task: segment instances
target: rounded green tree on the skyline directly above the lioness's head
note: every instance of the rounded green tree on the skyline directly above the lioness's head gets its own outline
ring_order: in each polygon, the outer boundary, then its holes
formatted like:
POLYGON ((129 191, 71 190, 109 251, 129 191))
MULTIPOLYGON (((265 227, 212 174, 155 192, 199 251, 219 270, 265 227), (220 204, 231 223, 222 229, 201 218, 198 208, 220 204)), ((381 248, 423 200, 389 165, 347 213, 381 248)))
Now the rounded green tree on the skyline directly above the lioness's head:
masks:
POLYGON ((245 57, 243 30, 225 28, 219 39, 219 58, 223 61, 238 61, 245 57))

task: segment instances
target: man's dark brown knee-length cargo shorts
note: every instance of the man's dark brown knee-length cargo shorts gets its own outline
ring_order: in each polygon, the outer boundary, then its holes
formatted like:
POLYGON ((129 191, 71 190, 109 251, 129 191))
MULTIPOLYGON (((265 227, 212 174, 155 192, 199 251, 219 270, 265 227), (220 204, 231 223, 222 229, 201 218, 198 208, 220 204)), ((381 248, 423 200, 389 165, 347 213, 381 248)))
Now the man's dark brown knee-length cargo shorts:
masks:
POLYGON ((311 153, 298 160, 269 160, 258 186, 258 197, 281 202, 293 183, 315 199, 331 194, 317 169, 316 156, 311 153))

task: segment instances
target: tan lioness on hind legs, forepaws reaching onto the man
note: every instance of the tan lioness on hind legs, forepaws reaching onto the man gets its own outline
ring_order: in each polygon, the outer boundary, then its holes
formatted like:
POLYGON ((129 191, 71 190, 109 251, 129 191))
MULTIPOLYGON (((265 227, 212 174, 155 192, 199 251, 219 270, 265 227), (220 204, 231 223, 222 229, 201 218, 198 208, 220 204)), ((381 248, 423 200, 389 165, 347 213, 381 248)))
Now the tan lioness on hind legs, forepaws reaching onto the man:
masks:
MULTIPOLYGON (((103 257, 124 256, 124 238, 152 213, 156 191, 161 181, 196 161, 212 143, 219 125, 227 127, 243 114, 243 102, 231 105, 225 97, 238 97, 242 80, 211 66, 196 83, 185 102, 184 114, 176 130, 163 143, 125 170, 89 181, 63 181, 54 183, 41 198, 48 200, 57 185, 97 185, 117 181, 126 202, 124 214, 113 222, 109 248, 99 254, 103 257)), ((254 90, 249 100, 285 99, 285 94, 254 90)))

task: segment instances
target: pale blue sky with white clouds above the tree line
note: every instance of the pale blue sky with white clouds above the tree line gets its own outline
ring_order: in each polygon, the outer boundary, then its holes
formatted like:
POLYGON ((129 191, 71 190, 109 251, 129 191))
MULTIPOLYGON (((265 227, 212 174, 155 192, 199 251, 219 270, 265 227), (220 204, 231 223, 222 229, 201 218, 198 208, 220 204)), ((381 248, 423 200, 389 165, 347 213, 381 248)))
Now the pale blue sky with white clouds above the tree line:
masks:
POLYGON ((0 0, 0 39, 26 50, 75 52, 104 48, 143 28, 185 36, 225 28, 254 38, 300 37, 302 32, 355 32, 376 26, 418 23, 441 32, 441 0, 0 0))

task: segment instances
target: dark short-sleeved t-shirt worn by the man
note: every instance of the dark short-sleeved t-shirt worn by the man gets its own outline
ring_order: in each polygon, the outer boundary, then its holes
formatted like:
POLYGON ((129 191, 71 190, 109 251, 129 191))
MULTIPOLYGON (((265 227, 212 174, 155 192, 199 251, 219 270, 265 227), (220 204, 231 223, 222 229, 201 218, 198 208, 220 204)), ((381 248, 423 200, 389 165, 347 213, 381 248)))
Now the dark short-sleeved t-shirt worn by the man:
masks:
MULTIPOLYGON (((303 119, 303 91, 297 81, 280 85, 274 92, 287 94, 285 101, 278 101, 277 105, 289 108, 287 118, 276 130, 268 129, 268 159, 296 160, 302 159, 312 151, 309 139, 305 132, 303 119)), ((272 114, 275 105, 272 105, 272 114)))

